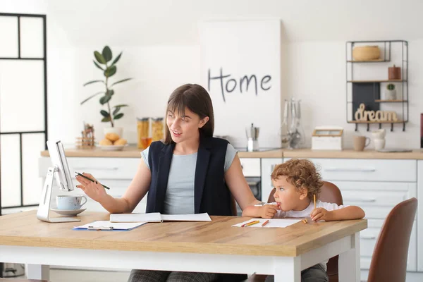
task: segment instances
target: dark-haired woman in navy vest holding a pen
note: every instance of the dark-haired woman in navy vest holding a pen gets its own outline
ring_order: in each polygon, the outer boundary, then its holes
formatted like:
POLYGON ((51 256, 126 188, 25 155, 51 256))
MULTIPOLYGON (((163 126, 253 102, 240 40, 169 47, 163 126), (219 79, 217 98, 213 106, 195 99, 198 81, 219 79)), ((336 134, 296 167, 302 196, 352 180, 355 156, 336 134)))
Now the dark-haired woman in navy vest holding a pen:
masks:
MULTIPOLYGON (((168 99, 166 137, 142 152, 137 173, 121 198, 80 176, 85 194, 110 213, 130 213, 147 194, 146 212, 230 216, 231 197, 241 209, 258 204, 228 141, 214 138, 212 99, 200 85, 178 87, 168 99)), ((85 176, 92 177, 89 173, 85 176)), ((131 271, 129 281, 214 281, 219 274, 131 271)), ((232 276, 231 281, 235 281, 232 276)))

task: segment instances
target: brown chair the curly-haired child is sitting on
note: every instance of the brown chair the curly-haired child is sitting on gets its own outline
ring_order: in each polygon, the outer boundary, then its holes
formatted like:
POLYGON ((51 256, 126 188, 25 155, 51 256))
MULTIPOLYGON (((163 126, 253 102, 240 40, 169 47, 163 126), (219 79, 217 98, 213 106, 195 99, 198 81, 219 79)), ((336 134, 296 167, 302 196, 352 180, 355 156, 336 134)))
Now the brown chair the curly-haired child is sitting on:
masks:
MULTIPOLYGON (((275 190, 271 190, 269 199, 267 202, 275 202, 274 198, 275 190)), ((319 200, 322 202, 331 202, 336 203, 338 205, 343 204, 341 190, 339 190, 338 186, 335 184, 323 181, 323 186, 321 186, 319 200)), ((331 257, 327 264, 328 269, 326 270, 326 274, 329 276, 329 282, 338 282, 338 256, 331 257)), ((249 282, 261 282, 264 281, 266 275, 252 275, 248 278, 247 281, 249 282)))

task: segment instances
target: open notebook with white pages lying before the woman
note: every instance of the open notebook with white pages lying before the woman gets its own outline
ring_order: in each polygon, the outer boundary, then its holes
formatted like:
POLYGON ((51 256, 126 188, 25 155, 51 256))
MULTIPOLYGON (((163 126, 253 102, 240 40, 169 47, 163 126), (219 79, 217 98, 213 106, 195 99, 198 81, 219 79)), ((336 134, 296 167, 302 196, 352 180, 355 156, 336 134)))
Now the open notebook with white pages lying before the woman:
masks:
POLYGON ((111 214, 110 222, 212 221, 209 214, 111 214))

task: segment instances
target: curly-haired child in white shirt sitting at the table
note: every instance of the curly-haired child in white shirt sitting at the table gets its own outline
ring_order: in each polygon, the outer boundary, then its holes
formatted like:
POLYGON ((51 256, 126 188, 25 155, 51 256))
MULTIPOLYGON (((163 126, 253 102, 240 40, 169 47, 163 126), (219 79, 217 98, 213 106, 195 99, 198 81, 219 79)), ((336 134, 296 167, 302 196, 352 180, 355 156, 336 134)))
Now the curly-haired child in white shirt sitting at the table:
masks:
MULTIPOLYGON (((284 218, 310 217, 313 221, 337 221, 346 219, 362 219, 364 211, 356 206, 338 206, 338 204, 316 201, 314 209, 313 197, 318 199, 323 182, 314 164, 307 159, 290 159, 278 164, 271 173, 271 181, 276 190, 276 204, 266 204, 260 207, 247 207, 243 216, 284 218)), ((301 281, 328 281, 326 262, 314 265, 301 271, 301 281)), ((266 281, 274 281, 268 276, 266 281)))

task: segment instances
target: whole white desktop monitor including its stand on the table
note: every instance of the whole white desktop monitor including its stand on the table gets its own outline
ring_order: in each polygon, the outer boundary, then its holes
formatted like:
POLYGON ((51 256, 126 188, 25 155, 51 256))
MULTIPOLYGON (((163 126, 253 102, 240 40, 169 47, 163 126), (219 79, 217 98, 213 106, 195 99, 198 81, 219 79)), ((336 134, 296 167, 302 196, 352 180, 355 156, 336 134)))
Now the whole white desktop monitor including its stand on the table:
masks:
POLYGON ((59 140, 49 140, 47 141, 47 147, 49 148, 52 166, 50 166, 46 172, 46 180, 44 181, 41 199, 39 200, 37 219, 47 222, 80 221, 80 219, 67 217, 49 217, 51 189, 53 188, 54 183, 53 178, 56 178, 56 183, 59 185, 61 190, 72 191, 73 183, 71 172, 69 171, 68 161, 65 156, 65 149, 63 149, 62 143, 59 140))

